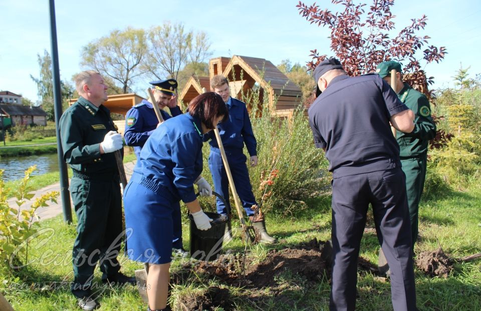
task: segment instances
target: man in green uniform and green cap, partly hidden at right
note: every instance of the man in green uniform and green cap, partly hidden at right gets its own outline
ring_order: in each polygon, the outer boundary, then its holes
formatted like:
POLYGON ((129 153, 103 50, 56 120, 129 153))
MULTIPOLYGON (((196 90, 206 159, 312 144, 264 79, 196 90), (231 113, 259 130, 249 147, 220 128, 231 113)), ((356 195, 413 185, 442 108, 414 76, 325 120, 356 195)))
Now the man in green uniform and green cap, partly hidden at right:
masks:
POLYGON ((396 69, 396 91, 399 99, 414 114, 414 130, 410 133, 396 132, 402 170, 406 175, 407 200, 411 218, 412 247, 417 240, 419 200, 426 176, 427 145, 436 135, 436 125, 431 117, 431 107, 426 96, 403 82, 401 64, 384 61, 378 64, 377 73, 391 84, 391 70, 396 69))

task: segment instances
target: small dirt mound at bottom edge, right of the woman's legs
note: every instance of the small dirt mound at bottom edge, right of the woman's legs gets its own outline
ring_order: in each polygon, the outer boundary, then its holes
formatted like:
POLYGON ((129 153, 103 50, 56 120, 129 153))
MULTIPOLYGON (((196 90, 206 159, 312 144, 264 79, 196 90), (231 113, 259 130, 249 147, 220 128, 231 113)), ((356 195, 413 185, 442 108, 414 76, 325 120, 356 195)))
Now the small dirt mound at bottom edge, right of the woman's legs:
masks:
POLYGON ((188 294, 182 296, 178 304, 186 311, 214 310, 221 307, 225 311, 234 309, 234 303, 227 288, 212 286, 201 294, 188 294))

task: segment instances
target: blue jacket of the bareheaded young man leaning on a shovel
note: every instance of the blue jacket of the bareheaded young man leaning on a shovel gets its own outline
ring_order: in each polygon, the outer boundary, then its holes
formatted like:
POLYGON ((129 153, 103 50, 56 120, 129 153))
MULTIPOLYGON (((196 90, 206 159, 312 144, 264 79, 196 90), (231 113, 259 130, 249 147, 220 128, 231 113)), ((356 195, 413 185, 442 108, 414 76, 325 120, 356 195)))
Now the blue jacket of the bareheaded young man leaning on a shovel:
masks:
MULTIPOLYGON (((220 138, 226 150, 243 149, 246 143, 247 150, 251 156, 257 155, 257 140, 252 130, 251 119, 246 108, 246 103, 232 98, 227 101, 229 109, 229 118, 220 122, 218 125, 220 138)), ((208 132, 206 140, 210 140, 210 145, 218 148, 214 131, 208 132)))

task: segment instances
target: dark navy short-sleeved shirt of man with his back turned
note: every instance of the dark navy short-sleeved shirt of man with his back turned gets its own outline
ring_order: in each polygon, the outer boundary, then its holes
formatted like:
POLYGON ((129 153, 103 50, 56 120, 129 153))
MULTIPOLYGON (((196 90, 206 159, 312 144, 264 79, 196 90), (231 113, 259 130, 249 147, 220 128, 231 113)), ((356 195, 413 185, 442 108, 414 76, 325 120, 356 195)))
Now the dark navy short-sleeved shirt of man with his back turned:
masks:
POLYGON ((334 178, 400 166, 389 119, 407 109, 378 74, 334 77, 308 110, 334 178))

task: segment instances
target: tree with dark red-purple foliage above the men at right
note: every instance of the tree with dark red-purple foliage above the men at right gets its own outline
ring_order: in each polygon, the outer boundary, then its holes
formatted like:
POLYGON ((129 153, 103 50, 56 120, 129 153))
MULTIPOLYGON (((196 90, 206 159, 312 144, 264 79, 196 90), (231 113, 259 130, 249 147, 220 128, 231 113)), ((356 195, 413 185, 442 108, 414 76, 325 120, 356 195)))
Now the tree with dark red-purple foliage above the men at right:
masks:
MULTIPOLYGON (((367 13, 365 3, 354 4, 352 0, 332 0, 332 3, 344 6, 344 10, 332 13, 320 9, 316 3, 308 6, 301 1, 296 7, 299 14, 312 24, 331 29, 331 49, 349 75, 372 72, 378 63, 386 60, 404 62, 403 71, 407 74, 404 80, 431 97, 427 86, 433 83, 433 77, 426 78, 421 61, 425 64, 439 62, 447 52, 444 46, 427 45, 429 36, 416 34, 426 26, 426 15, 411 19, 409 26, 391 38, 394 0, 373 0, 367 13), (424 45, 427 47, 422 50, 424 45)), ((313 60, 307 62, 307 66, 313 69, 327 55, 320 55, 317 49, 313 49, 310 56, 313 60)))

